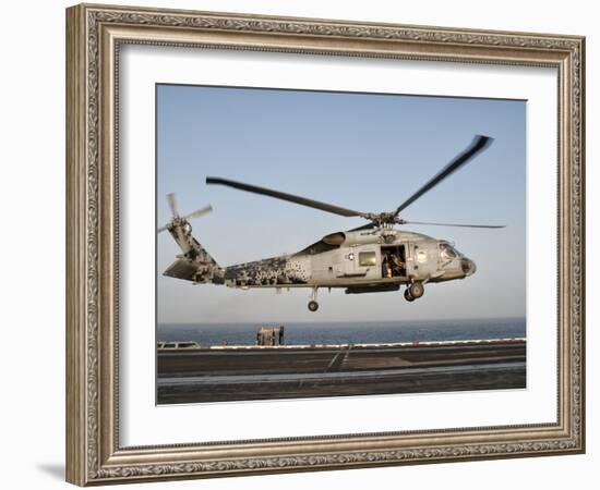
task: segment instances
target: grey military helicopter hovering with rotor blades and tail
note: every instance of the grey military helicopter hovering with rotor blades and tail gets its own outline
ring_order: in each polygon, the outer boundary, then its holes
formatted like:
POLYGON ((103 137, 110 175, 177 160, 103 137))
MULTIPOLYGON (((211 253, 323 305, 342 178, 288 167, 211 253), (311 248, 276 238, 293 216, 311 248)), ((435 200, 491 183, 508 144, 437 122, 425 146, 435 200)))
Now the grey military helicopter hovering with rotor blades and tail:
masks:
POLYGON ((173 194, 167 196, 171 221, 157 231, 168 231, 181 249, 177 260, 164 275, 191 281, 194 284, 220 284, 249 290, 308 287, 311 290, 308 308, 319 309, 317 291, 326 287, 345 289, 346 294, 364 294, 399 291, 413 302, 424 294, 429 283, 454 281, 472 275, 477 266, 458 252, 447 240, 437 240, 421 233, 400 231, 395 225, 427 224, 500 229, 499 224, 460 224, 407 221, 399 215, 408 206, 431 191, 443 180, 488 148, 493 138, 477 135, 472 143, 458 154, 437 174, 401 203, 386 212, 362 212, 314 199, 259 187, 242 182, 207 176, 206 184, 223 185, 276 199, 308 206, 348 218, 363 218, 368 223, 348 231, 323 236, 308 247, 288 255, 221 267, 192 236, 191 219, 212 211, 207 206, 187 216, 180 216, 173 194))

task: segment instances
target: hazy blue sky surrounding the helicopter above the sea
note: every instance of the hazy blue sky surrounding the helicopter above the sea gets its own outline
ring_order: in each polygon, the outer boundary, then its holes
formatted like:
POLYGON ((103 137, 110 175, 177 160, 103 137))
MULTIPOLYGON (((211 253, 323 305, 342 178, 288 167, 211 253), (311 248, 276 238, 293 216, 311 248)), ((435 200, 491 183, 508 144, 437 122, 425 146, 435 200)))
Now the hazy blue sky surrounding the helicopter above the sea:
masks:
POLYGON ((161 275, 179 249, 157 240, 159 322, 346 321, 525 316, 526 102, 403 95, 157 86, 157 225, 166 194, 181 213, 211 204, 192 225, 219 265, 293 253, 324 234, 363 223, 290 203, 205 185, 233 179, 357 209, 393 210, 465 149, 491 147, 409 206, 407 220, 506 224, 503 230, 410 225, 455 242, 477 262, 464 281, 400 293, 276 294, 197 285, 161 275))

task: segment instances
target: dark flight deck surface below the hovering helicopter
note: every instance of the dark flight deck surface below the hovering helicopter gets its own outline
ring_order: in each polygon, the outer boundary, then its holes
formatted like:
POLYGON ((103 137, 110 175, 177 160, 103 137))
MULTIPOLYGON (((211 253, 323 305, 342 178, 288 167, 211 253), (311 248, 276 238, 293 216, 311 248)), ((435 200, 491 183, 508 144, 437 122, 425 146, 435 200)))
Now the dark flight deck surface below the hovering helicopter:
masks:
POLYGON ((157 352, 158 404, 525 388, 525 339, 157 352))

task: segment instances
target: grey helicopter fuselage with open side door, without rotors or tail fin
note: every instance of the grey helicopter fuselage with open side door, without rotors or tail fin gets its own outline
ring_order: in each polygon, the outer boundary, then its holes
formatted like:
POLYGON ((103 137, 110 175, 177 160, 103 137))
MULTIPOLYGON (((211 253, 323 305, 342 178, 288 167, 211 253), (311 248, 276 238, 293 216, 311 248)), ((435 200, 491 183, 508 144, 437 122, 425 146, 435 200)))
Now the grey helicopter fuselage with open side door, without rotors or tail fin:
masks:
MULTIPOLYGON (((205 282, 230 287, 346 287, 348 293, 463 279, 475 262, 452 244, 394 229, 337 232, 291 255, 225 267, 205 282)), ((204 282, 204 281, 197 281, 204 282)))

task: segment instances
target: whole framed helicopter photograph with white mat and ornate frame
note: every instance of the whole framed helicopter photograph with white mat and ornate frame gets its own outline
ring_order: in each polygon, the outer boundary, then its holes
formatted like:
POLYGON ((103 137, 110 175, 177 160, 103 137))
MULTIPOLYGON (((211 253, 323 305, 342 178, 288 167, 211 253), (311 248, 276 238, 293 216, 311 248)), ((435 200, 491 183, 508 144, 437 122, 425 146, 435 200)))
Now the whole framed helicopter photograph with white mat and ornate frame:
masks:
POLYGON ((67 479, 585 451, 585 39, 67 11, 67 479))

